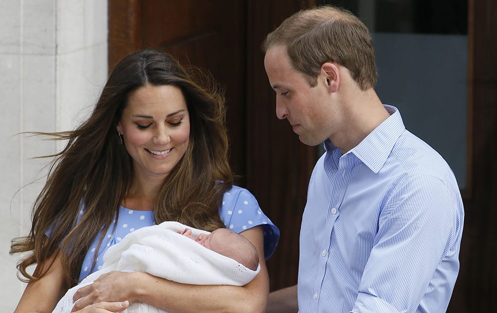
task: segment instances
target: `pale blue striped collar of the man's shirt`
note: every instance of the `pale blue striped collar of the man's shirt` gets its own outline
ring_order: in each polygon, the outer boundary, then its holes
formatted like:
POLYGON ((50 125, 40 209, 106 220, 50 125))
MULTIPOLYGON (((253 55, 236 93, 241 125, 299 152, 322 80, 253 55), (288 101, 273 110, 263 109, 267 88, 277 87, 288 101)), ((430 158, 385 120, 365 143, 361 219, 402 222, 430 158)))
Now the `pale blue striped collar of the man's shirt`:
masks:
MULTIPOLYGON (((385 164, 397 139, 406 129, 399 110, 391 105, 384 104, 383 106, 390 114, 390 117, 346 153, 354 154, 375 173, 385 164)), ((336 149, 330 139, 325 140, 324 147, 327 152, 336 149)))

